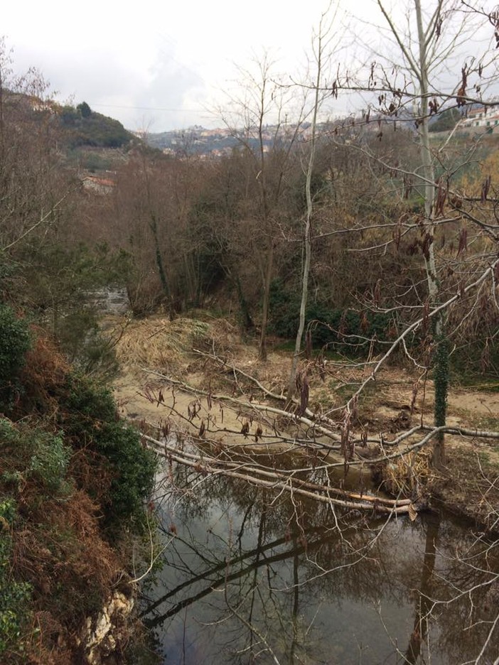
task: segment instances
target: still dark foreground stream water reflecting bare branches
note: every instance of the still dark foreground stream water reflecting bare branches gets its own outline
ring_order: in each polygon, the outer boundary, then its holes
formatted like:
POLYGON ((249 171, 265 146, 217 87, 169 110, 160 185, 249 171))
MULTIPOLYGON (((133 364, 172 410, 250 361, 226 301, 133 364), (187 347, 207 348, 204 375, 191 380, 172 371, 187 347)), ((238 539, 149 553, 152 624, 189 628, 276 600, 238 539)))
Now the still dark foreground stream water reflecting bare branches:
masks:
POLYGON ((165 549, 141 616, 160 662, 499 663, 499 548, 471 526, 166 463, 156 505, 165 549))

